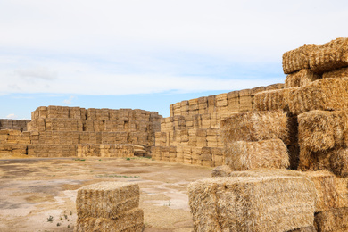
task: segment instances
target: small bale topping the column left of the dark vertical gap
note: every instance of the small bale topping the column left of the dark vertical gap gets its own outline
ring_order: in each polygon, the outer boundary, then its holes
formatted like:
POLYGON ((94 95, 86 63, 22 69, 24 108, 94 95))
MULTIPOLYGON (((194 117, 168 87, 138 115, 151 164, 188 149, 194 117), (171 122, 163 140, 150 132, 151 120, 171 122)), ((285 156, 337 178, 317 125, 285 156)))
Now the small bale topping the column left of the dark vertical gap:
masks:
POLYGON ((294 92, 294 88, 283 88, 257 93, 253 99, 253 109, 255 111, 288 111, 289 95, 294 92))

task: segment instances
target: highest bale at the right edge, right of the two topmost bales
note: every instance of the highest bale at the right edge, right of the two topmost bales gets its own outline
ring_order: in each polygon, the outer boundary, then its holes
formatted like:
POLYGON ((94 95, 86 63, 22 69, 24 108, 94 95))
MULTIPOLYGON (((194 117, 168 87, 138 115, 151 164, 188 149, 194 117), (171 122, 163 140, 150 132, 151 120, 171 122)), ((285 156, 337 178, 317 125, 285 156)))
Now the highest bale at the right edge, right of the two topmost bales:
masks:
POLYGON ((311 53, 310 67, 316 73, 323 73, 348 66, 348 38, 339 37, 311 53))

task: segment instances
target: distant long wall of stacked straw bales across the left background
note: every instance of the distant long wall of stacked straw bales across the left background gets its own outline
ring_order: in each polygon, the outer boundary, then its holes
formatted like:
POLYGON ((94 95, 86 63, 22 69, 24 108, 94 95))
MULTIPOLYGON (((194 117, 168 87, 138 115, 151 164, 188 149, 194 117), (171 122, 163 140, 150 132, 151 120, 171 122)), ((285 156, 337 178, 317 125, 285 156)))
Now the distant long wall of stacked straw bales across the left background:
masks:
POLYGON ((161 130, 158 112, 41 106, 28 130, 0 130, 0 153, 37 157, 150 155, 161 130))

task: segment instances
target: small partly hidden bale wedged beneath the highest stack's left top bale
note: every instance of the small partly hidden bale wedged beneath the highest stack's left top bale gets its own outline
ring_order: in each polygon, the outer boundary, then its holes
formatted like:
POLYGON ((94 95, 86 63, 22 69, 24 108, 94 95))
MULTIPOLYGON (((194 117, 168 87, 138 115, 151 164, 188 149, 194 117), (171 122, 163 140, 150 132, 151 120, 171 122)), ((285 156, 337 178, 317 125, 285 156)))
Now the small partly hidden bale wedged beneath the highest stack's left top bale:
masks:
POLYGON ((309 69, 299 70, 286 76, 284 87, 303 87, 320 78, 320 75, 309 69))

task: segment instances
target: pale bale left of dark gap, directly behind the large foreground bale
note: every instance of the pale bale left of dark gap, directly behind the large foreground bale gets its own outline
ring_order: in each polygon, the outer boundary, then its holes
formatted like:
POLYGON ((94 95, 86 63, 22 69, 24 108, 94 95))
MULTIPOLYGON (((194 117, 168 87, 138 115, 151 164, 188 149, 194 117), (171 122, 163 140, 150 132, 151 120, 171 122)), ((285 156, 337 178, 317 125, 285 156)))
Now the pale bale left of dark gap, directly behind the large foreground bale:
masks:
POLYGON ((230 143, 225 148, 225 163, 232 170, 285 169, 290 165, 286 145, 280 139, 230 143))

